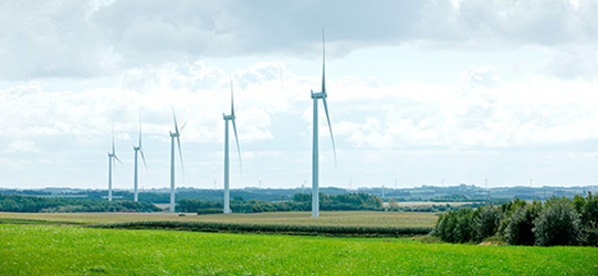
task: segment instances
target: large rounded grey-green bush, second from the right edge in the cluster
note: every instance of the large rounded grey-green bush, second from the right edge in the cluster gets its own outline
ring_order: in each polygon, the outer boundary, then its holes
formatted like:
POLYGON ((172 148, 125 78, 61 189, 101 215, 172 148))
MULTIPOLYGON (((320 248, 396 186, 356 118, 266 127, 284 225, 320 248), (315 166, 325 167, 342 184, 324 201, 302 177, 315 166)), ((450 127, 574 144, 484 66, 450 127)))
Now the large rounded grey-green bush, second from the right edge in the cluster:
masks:
POLYGON ((576 245, 579 242, 578 214, 567 198, 553 198, 546 202, 534 225, 537 245, 576 245))

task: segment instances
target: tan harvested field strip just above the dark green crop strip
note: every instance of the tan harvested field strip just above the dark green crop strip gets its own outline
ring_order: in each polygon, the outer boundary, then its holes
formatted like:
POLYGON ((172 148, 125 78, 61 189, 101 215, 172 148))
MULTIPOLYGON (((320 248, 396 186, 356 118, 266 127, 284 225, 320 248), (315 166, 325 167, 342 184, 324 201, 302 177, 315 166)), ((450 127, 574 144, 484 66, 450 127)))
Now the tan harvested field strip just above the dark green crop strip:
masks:
POLYGON ((432 227, 436 213, 423 212, 321 212, 321 217, 311 217, 310 212, 272 212, 253 214, 209 214, 187 213, 8 213, 0 212, 2 219, 44 220, 105 224, 137 221, 200 221, 240 224, 271 225, 331 225, 331 226, 397 226, 432 227))

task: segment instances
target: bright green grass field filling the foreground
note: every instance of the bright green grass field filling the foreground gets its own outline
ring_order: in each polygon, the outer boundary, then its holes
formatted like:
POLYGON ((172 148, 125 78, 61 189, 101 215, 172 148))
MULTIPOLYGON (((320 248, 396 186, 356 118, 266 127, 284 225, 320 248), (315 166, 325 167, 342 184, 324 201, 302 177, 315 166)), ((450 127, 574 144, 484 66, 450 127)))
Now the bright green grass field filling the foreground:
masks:
POLYGON ((0 224, 0 275, 596 275, 598 248, 0 224))

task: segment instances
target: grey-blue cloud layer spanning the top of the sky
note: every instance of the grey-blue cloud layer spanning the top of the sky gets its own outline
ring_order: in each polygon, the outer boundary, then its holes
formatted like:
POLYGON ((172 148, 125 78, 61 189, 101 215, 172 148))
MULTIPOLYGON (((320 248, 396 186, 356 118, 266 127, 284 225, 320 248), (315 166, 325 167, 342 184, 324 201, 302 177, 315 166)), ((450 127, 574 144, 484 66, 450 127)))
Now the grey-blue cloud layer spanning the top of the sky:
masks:
POLYGON ((0 11, 0 77, 118 75, 210 56, 316 59, 322 26, 333 57, 401 43, 458 51, 594 45, 597 12, 591 0, 9 2, 0 11))

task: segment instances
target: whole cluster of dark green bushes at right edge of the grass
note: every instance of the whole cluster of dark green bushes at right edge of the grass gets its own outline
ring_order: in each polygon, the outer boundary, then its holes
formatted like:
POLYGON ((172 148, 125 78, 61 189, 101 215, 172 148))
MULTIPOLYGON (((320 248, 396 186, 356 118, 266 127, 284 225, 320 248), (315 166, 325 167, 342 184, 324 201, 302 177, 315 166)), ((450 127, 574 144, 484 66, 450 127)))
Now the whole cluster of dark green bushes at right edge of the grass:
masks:
POLYGON ((598 197, 553 197, 546 203, 514 200, 500 206, 460 209, 440 214, 432 235, 449 243, 479 243, 489 237, 512 245, 598 246, 598 197))

